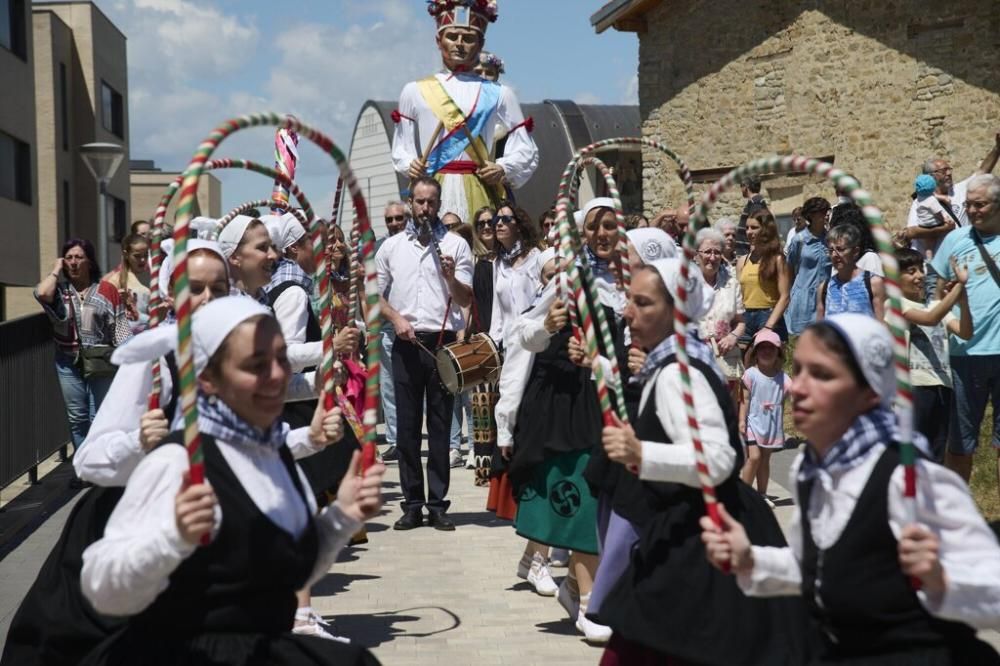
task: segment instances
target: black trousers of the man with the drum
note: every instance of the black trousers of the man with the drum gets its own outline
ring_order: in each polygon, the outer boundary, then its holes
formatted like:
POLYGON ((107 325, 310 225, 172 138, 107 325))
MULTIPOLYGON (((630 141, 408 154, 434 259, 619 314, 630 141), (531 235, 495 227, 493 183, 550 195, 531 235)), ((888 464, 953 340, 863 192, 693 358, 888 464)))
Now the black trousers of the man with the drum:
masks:
MULTIPOLYGON (((417 333, 417 338, 434 351, 438 333, 417 333)), ((455 341, 446 332, 442 344, 455 341)), ((397 337, 392 345, 392 379, 396 389, 396 451, 399 453, 399 483, 403 490, 403 511, 443 512, 451 504, 445 499, 451 479, 448 449, 451 439, 455 396, 438 377, 434 359, 412 342, 397 337), (420 465, 421 426, 427 405, 427 495, 420 465)))

